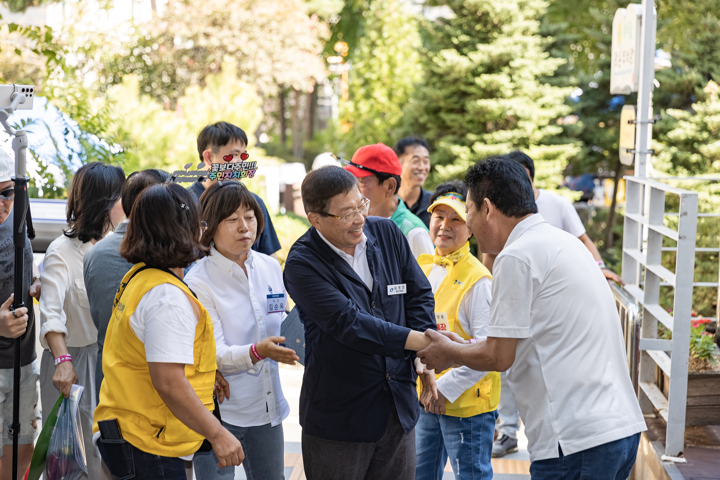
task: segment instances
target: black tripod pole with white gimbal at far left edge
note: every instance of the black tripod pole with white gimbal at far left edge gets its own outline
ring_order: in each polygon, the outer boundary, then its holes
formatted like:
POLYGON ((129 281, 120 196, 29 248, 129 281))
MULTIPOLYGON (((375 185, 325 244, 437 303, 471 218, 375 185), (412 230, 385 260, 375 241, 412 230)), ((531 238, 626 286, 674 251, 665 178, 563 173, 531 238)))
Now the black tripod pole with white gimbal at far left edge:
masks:
MULTIPOLYGON (((5 127, 13 138, 12 150, 15 152, 15 201, 12 209, 13 214, 13 230, 12 241, 15 246, 15 285, 14 300, 12 309, 25 307, 23 272, 24 272, 24 250, 25 250, 25 226, 27 223, 27 237, 35 238, 35 230, 32 228, 32 219, 30 218, 30 201, 27 197, 27 162, 25 155, 27 154, 27 133, 24 130, 12 130, 7 119, 10 114, 18 107, 19 104, 25 103, 25 95, 19 92, 12 94, 9 107, 0 109, 0 123, 5 127)), ((30 304, 28 309, 32 308, 30 304)), ((27 330, 30 330, 28 327, 27 330)), ((12 472, 13 479, 17 479, 17 452, 18 452, 18 435, 20 433, 20 342, 27 335, 27 330, 20 337, 14 339, 14 365, 13 365, 13 382, 12 382, 12 424, 8 427, 8 433, 12 437, 12 472)))

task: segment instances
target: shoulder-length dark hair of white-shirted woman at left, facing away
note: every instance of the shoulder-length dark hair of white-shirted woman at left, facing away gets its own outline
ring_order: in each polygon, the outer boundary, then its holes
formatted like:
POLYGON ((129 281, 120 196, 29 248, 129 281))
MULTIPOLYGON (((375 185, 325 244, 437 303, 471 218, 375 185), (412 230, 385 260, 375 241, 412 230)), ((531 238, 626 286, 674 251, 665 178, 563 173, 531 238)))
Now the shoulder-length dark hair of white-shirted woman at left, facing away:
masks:
POLYGON ((110 210, 117 203, 125 183, 122 168, 91 162, 78 168, 68 194, 66 237, 82 243, 100 240, 110 225, 110 210))

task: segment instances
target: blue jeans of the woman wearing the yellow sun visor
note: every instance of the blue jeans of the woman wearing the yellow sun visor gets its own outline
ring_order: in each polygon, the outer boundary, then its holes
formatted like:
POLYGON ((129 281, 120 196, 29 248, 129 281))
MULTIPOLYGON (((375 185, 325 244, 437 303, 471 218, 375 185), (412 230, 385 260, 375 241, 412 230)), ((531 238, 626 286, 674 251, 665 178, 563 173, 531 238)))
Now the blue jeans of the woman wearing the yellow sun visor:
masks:
POLYGON ((441 480, 448 456, 455 479, 492 479, 492 434, 497 410, 472 417, 435 415, 420 410, 415 425, 415 480, 441 480))

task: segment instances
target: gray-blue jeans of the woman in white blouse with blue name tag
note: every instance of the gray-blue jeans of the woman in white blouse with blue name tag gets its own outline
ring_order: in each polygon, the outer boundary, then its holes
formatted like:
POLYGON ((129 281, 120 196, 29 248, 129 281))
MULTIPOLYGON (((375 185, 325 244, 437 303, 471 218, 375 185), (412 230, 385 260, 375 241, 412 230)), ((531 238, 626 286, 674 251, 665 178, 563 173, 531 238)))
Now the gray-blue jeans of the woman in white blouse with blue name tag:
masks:
MULTIPOLYGON (((243 445, 243 468, 248 480, 284 480, 282 423, 276 427, 269 423, 258 427, 237 427, 228 422, 222 422, 222 425, 243 445)), ((235 479, 235 467, 218 467, 215 452, 195 453, 192 464, 197 480, 235 479)))

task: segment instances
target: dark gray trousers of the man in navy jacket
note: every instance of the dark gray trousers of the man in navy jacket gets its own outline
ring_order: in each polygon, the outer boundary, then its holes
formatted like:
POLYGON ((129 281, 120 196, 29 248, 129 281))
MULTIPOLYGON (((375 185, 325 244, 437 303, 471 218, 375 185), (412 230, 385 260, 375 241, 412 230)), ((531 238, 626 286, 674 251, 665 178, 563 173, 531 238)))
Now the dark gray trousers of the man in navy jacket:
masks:
POLYGON ((302 433, 307 480, 414 480, 415 429, 405 435, 395 404, 377 442, 343 442, 302 433))

